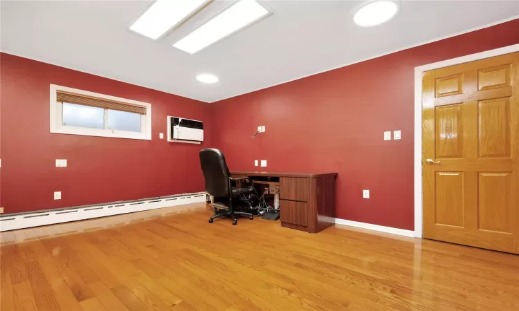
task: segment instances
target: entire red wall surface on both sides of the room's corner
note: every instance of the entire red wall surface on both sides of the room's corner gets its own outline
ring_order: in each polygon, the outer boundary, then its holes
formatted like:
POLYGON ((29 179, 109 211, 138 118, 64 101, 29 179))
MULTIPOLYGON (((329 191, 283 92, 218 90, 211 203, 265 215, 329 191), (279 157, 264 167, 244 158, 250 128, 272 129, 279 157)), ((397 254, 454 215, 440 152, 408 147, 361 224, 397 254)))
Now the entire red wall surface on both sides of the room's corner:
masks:
POLYGON ((210 105, 0 53, 0 206, 15 213, 203 191, 198 152, 217 147, 231 169, 268 160, 269 171, 336 171, 338 218, 413 229, 414 67, 518 44, 518 29, 516 19, 210 105), (152 140, 49 133, 49 84, 151 103, 152 140), (203 120, 205 142, 159 140, 166 115, 203 120), (266 133, 252 139, 258 125, 266 133), (384 142, 394 130, 402 139, 384 142), (69 167, 56 168, 57 158, 69 167))

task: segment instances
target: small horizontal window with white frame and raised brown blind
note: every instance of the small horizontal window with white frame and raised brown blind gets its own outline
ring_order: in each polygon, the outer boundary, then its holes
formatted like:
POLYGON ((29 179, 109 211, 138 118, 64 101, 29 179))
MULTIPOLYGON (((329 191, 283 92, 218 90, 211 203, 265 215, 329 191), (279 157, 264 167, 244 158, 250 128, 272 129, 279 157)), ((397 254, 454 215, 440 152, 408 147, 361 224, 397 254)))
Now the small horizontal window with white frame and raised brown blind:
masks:
POLYGON ((51 84, 51 133, 151 139, 151 105, 51 84))

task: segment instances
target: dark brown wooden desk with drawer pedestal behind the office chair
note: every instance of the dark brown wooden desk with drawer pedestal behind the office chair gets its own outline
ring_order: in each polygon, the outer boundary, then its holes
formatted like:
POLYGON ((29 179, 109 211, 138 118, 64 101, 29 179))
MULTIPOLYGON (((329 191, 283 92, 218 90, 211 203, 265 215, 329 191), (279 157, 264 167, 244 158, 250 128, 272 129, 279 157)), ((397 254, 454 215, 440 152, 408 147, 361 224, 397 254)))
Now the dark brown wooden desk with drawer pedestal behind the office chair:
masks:
POLYGON ((231 171, 230 174, 233 178, 279 178, 283 227, 316 233, 334 225, 337 173, 231 171))

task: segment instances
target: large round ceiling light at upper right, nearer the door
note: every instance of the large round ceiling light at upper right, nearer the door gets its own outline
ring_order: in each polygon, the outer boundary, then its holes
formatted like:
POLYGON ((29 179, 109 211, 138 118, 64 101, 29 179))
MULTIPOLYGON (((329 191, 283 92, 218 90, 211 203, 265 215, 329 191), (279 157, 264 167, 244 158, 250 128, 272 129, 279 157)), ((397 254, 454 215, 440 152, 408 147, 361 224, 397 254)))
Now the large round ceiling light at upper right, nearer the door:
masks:
POLYGON ((358 26, 375 26, 389 21, 398 10, 396 1, 367 1, 356 10, 353 20, 358 26))

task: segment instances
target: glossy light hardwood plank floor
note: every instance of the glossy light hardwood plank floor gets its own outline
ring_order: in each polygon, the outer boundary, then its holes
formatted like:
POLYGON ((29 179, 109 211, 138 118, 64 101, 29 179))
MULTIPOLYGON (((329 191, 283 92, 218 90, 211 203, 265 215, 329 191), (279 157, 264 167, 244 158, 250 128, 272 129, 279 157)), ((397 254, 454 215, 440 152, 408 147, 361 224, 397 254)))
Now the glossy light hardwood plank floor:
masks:
POLYGON ((516 255, 203 207, 125 220, 145 213, 2 234, 1 310, 519 310, 516 255))

